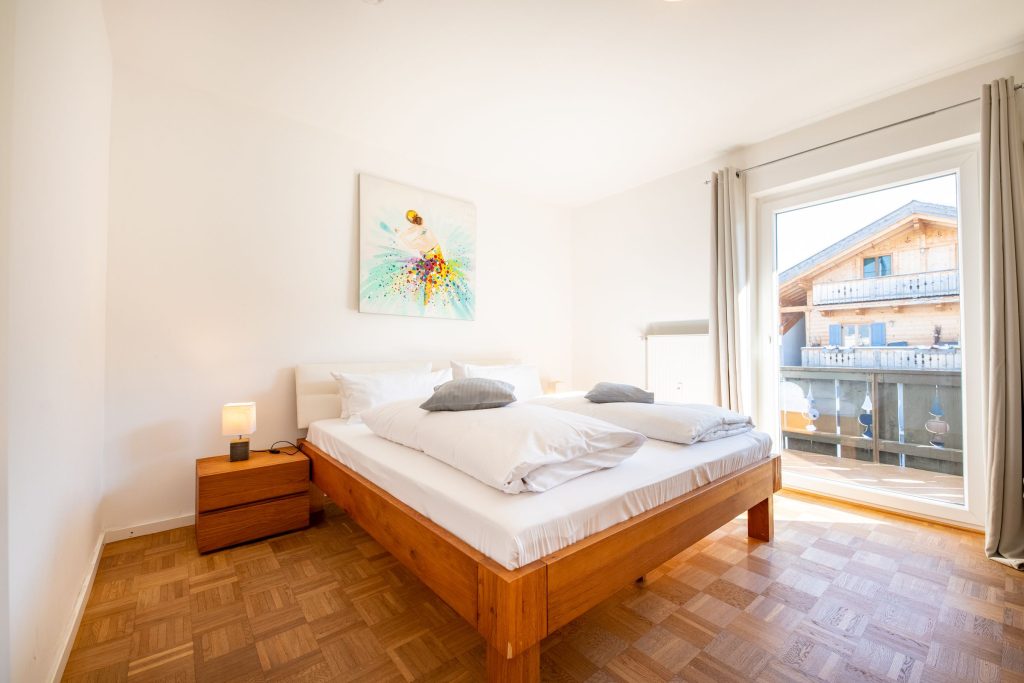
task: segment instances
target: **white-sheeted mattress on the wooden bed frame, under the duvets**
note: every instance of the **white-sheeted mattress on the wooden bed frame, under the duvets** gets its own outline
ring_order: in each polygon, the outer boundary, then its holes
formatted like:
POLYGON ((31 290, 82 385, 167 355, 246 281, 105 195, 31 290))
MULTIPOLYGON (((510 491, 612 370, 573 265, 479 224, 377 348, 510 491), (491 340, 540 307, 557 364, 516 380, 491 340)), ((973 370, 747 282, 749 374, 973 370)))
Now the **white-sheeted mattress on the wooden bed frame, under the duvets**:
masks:
POLYGON ((306 438, 509 569, 752 465, 771 450, 771 437, 757 431, 693 445, 650 439, 618 467, 543 494, 512 496, 364 424, 318 420, 306 438))

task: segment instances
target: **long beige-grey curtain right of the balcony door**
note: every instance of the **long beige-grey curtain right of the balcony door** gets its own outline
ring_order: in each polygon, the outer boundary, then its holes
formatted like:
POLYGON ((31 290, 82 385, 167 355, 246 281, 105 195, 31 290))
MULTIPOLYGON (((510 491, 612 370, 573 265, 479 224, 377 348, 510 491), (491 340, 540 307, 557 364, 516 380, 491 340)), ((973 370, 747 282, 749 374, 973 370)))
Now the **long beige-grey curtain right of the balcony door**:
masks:
POLYGON ((1024 332, 1024 165, 1013 79, 981 93, 982 282, 988 380, 985 552, 1024 567, 1021 333, 1024 332))

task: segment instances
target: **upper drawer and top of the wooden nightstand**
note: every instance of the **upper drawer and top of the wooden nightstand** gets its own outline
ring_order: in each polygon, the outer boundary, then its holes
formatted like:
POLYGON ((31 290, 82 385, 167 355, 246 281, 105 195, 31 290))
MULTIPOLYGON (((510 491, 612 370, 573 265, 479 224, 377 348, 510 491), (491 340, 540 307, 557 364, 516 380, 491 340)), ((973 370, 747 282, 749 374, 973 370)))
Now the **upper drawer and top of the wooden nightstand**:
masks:
POLYGON ((309 490, 309 461, 304 456, 265 456, 229 463, 200 461, 203 476, 196 486, 196 510, 210 512, 309 490), (219 471, 219 470, 223 471, 219 471))

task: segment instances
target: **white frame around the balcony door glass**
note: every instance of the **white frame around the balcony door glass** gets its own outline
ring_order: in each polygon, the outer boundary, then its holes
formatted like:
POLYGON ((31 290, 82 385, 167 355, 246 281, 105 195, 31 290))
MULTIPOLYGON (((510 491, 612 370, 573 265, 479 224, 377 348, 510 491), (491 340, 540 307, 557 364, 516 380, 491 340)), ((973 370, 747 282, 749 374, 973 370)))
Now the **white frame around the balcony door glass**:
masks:
POLYGON ((778 272, 775 264, 775 214, 825 200, 852 197, 864 193, 906 184, 916 180, 956 173, 958 195, 959 249, 962 291, 961 315, 964 403, 964 495, 965 505, 867 488, 841 481, 826 480, 794 473, 783 473, 782 483, 788 488, 807 490, 855 503, 909 513, 970 528, 983 528, 985 487, 985 440, 982 404, 984 373, 982 371, 981 339, 981 191, 979 182, 978 135, 961 138, 936 150, 922 150, 900 155, 899 161, 880 162, 849 172, 833 172, 806 182, 790 183, 779 190, 766 189, 752 195, 754 220, 751 239, 754 250, 754 347, 752 381, 757 400, 755 418, 761 429, 772 434, 776 452, 781 451, 779 420, 779 355, 778 272), (824 179, 822 179, 824 178, 824 179))

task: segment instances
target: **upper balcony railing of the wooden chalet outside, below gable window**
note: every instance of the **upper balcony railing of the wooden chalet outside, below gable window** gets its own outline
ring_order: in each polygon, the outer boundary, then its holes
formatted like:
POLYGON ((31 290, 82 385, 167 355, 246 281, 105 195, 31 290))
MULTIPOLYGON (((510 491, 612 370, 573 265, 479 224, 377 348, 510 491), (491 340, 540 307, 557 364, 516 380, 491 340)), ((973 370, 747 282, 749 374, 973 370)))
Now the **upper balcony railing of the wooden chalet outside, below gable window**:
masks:
POLYGON ((959 271, 935 270, 905 275, 847 280, 839 283, 817 283, 814 285, 811 299, 815 306, 824 306, 861 301, 955 296, 958 294, 959 271))

